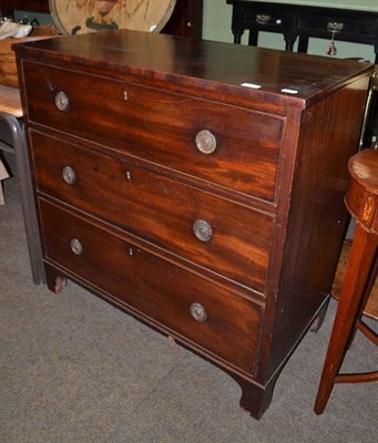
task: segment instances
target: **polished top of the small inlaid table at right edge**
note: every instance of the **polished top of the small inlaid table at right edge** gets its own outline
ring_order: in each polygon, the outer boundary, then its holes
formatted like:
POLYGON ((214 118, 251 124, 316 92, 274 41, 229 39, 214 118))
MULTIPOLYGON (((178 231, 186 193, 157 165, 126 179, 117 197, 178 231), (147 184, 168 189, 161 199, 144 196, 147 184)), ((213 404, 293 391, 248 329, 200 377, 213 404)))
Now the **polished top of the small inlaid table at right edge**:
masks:
POLYGON ((364 188, 378 196, 378 150, 365 150, 354 155, 348 168, 364 188))

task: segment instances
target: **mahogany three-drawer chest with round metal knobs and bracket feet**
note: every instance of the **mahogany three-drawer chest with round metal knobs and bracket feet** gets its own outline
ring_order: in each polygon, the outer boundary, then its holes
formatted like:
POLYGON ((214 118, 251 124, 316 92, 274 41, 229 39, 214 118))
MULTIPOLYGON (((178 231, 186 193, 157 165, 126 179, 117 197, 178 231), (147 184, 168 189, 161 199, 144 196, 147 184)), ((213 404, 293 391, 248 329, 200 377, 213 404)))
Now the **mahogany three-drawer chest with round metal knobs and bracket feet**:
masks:
POLYGON ((129 31, 16 52, 49 288, 174 338, 259 418, 325 313, 372 66, 129 31))

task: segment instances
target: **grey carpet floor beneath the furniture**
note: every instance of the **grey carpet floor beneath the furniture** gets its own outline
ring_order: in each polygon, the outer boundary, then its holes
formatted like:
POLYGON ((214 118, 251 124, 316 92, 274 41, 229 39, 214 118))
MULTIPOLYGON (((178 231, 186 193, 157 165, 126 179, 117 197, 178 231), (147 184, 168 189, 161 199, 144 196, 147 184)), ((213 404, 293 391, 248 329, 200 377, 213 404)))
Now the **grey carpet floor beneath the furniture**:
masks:
MULTIPOLYGON (((255 421, 217 368, 73 282, 61 295, 33 286, 16 179, 3 187, 1 443, 378 441, 378 383, 337 385, 325 413, 313 412, 335 302, 255 421)), ((345 370, 376 365, 376 349, 358 333, 345 370)))

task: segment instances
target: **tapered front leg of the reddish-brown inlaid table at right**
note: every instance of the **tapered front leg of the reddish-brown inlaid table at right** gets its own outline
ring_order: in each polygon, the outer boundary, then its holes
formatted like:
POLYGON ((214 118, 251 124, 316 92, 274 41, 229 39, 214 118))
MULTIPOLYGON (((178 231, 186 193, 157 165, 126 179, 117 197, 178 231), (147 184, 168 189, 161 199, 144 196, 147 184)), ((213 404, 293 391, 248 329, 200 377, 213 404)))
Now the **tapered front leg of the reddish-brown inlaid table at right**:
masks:
POLYGON ((358 320, 364 289, 376 258, 377 245, 377 235, 371 235, 357 225, 315 402, 316 414, 324 412, 335 378, 341 367, 350 334, 358 320))

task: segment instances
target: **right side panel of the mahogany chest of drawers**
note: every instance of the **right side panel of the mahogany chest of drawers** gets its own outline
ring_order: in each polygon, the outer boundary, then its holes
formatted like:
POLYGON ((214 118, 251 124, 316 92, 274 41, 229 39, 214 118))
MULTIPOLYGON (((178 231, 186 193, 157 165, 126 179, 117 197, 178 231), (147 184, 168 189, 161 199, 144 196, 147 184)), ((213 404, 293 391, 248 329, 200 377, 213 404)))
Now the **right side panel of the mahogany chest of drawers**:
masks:
POLYGON ((357 151, 368 76, 306 110, 277 297, 272 368, 330 293, 349 219, 347 162, 357 151))

